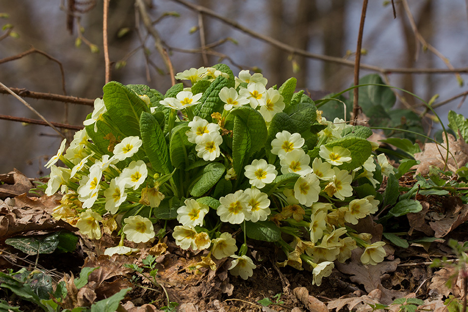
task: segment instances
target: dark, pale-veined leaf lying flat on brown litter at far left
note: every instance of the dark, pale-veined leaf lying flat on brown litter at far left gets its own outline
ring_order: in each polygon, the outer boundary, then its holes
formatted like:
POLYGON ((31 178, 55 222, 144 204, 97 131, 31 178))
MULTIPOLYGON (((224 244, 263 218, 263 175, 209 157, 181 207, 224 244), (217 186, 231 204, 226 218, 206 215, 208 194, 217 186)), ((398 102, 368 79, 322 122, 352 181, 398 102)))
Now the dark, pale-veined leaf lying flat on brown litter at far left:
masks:
POLYGON ((14 237, 6 239, 5 243, 29 254, 52 253, 59 244, 60 232, 55 232, 46 236, 14 237))

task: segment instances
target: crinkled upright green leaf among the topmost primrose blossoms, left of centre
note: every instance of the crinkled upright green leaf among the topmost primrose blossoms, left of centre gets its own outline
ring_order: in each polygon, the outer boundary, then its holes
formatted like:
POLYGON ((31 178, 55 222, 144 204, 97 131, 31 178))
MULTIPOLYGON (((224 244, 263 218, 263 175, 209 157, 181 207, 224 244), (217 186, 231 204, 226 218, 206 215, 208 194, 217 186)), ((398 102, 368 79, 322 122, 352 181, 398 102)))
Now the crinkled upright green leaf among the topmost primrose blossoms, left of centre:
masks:
POLYGON ((224 87, 234 87, 234 80, 226 79, 223 76, 216 77, 201 96, 201 103, 192 106, 194 114, 211 122, 211 114, 214 112, 222 112, 224 109, 224 102, 219 98, 219 92, 224 87))

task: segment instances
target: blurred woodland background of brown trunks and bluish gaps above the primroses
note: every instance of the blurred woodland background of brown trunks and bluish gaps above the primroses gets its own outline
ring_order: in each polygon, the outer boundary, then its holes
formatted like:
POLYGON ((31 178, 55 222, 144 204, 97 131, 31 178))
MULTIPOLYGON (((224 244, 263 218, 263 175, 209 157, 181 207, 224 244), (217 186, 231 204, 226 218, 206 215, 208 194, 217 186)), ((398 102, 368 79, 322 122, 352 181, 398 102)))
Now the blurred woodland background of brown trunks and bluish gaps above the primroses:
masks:
MULTIPOLYGON (((448 69, 434 50, 421 43, 423 38, 454 68, 464 69, 459 77, 397 71, 382 77, 426 101, 438 94, 436 104, 458 96, 439 107, 443 118, 449 109, 466 112, 467 88, 461 80, 466 78, 468 63, 466 1, 395 0, 395 19, 391 1, 369 2, 361 62, 380 69, 448 69)), ((68 96, 92 100, 102 96, 103 5, 103 0, 0 0, 0 22, 6 25, 0 32, 0 82, 11 88, 63 95, 64 79, 68 96), (31 46, 60 62, 64 78, 59 63, 43 54, 20 57, 31 46)), ((168 60, 174 73, 226 63, 234 72, 261 71, 270 86, 295 76, 299 88, 319 99, 352 84, 361 7, 362 0, 110 0, 111 79, 147 84, 164 93, 171 86, 168 60), (239 27, 267 38, 259 39, 239 27), (290 48, 280 48, 269 40, 290 48), (317 55, 350 64, 323 61, 317 55)), ((363 68, 360 75, 373 72, 363 68)), ((89 105, 25 99, 54 122, 81 125, 92 111, 89 105)), ((409 106, 418 113, 423 111, 418 100, 400 94, 397 107, 409 106)), ((38 119, 5 94, 0 94, 0 115, 38 119)), ((74 132, 62 131, 68 136, 74 132)), ((42 166, 56 153, 60 141, 50 128, 0 120, 0 173, 15 167, 31 177, 48 174, 42 166)))

